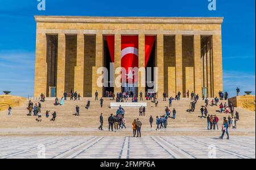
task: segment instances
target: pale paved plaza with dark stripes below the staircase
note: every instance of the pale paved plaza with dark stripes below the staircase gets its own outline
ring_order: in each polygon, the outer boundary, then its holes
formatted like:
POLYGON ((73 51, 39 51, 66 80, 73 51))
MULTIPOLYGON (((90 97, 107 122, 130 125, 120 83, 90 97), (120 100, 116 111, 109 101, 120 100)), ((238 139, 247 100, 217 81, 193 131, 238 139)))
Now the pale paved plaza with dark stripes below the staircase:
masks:
POLYGON ((255 136, 0 137, 0 158, 245 158, 255 159, 255 136))

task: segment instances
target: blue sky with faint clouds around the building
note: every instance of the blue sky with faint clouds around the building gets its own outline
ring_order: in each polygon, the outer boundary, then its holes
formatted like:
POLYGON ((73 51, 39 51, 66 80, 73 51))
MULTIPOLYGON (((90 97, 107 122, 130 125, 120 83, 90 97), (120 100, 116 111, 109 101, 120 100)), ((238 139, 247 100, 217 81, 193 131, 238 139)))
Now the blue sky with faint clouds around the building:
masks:
POLYGON ((0 0, 0 94, 3 90, 19 96, 34 93, 34 15, 224 16, 224 90, 234 96, 239 86, 241 92, 255 94, 255 0, 216 2, 217 10, 209 11, 208 0, 46 0, 46 11, 38 11, 37 0, 0 0))

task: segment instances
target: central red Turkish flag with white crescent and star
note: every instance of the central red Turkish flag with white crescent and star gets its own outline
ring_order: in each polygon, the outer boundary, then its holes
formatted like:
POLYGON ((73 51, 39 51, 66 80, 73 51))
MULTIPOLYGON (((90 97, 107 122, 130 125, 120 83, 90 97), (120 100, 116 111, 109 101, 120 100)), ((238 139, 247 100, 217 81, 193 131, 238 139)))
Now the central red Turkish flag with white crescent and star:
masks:
POLYGON ((136 82, 137 77, 133 68, 138 68, 138 35, 121 36, 121 67, 126 71, 126 82, 136 82))

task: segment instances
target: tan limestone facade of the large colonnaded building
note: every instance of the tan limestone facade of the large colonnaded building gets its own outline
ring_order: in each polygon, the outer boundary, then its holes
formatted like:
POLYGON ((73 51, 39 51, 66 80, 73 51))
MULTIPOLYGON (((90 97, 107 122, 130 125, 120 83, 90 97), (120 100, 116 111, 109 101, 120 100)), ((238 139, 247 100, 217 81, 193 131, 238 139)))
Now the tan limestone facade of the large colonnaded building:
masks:
MULTIPOLYGON (((104 66, 104 36, 114 35, 114 68, 121 66, 121 35, 138 35, 139 67, 144 65, 145 36, 155 35, 158 96, 174 97, 189 90, 209 97, 223 88, 221 24, 223 18, 142 18, 35 16, 36 61, 34 96, 56 96, 71 89, 82 97, 100 96, 97 68, 104 66), (50 41, 51 40, 51 41, 50 41)), ((115 72, 114 77, 118 77, 115 72)), ((141 75, 140 75, 141 77, 141 75)), ((114 87, 114 92, 120 92, 114 87)), ((138 92, 144 92, 139 82, 138 92)))

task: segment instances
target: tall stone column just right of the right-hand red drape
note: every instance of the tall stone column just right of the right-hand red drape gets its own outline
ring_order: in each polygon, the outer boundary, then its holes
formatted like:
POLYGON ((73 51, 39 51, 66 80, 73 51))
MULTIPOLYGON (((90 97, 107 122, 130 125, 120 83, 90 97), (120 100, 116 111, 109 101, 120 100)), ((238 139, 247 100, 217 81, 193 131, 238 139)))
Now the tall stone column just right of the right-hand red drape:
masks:
POLYGON ((164 92, 164 49, 163 49, 163 34, 157 35, 156 41, 156 67, 158 67, 158 74, 156 75, 157 97, 162 98, 164 92))

